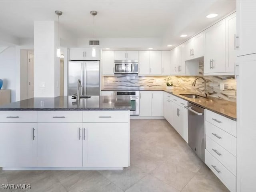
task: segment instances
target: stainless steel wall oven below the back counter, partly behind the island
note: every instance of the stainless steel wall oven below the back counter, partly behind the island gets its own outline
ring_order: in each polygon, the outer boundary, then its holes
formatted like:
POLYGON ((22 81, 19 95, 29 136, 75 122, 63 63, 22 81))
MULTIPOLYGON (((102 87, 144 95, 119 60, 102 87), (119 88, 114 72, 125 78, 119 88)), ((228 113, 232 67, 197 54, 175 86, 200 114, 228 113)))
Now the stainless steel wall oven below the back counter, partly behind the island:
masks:
POLYGON ((116 91, 115 95, 129 95, 131 99, 132 109, 130 115, 139 115, 140 110, 140 99, 139 91, 116 91))

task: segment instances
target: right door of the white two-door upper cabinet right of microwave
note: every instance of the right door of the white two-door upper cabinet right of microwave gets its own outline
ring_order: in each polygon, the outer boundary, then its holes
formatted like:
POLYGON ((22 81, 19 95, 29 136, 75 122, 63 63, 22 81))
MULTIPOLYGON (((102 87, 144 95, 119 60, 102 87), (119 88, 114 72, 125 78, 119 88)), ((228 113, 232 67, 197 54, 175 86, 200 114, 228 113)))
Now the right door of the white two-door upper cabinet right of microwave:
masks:
POLYGON ((150 74, 162 74, 162 51, 149 51, 150 52, 150 74))

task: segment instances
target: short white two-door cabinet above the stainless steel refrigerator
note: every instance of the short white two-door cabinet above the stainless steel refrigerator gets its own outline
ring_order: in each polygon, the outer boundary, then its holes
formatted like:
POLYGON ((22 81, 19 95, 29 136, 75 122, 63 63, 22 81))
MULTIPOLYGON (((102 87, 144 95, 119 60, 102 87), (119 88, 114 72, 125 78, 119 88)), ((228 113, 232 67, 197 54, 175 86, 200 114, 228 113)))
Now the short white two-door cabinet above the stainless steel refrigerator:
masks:
POLYGON ((93 57, 92 49, 70 49, 69 60, 100 60, 100 50, 96 49, 96 57, 93 57))

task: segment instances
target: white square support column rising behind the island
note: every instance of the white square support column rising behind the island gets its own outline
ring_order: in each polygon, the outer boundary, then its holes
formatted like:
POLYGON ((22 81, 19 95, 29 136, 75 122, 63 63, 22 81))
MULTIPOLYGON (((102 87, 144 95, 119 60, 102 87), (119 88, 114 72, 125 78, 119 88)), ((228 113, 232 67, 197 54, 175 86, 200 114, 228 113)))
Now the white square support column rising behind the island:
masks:
POLYGON ((58 25, 54 21, 34 22, 34 97, 60 96, 58 25))

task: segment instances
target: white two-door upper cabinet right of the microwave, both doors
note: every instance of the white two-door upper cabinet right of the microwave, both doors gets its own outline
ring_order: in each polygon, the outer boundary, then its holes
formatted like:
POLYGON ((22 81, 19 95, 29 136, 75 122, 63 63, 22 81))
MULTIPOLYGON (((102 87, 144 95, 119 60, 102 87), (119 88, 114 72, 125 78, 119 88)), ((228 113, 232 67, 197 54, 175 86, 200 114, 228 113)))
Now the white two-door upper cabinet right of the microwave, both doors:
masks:
POLYGON ((162 75, 162 51, 139 51, 138 75, 162 75))

